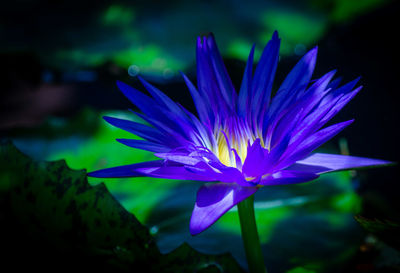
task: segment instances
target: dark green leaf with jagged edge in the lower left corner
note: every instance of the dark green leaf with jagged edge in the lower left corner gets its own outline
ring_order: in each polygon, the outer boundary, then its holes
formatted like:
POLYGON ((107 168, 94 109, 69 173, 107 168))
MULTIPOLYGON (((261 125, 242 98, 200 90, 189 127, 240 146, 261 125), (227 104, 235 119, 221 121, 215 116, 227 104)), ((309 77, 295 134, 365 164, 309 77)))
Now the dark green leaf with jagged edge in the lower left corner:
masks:
MULTIPOLYGON (((94 268, 114 272, 138 266, 146 272, 243 272, 231 255, 201 254, 186 244, 162 255, 148 229, 104 184, 89 185, 84 170, 71 170, 64 161, 36 162, 10 142, 0 144, 0 201, 6 200, 2 209, 10 210, 3 223, 15 220, 18 232, 26 233, 16 236, 34 238, 45 245, 45 253, 72 253, 63 262, 83 257, 98 263, 94 268)), ((39 253, 31 255, 41 257, 41 245, 33 249, 39 253)))

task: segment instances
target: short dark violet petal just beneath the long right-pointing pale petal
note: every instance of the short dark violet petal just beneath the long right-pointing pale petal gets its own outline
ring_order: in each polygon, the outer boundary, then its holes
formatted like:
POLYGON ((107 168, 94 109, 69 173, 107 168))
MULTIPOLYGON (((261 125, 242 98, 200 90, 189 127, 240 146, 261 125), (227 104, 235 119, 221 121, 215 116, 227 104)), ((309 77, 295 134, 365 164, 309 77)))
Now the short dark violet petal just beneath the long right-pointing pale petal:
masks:
POLYGON ((265 186, 304 183, 318 178, 312 172, 281 170, 261 179, 260 184, 265 186))

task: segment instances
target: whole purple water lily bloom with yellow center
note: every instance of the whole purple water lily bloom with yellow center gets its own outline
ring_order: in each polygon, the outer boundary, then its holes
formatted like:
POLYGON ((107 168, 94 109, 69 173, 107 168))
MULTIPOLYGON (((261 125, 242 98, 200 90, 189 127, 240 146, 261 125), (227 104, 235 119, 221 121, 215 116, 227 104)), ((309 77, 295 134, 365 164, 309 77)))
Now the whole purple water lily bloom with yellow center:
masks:
POLYGON ((137 123, 104 117, 143 140, 117 139, 154 152, 160 160, 103 169, 93 177, 197 180, 190 232, 198 234, 263 186, 302 183, 322 173, 388 164, 388 161, 335 154, 311 154, 353 120, 324 127, 361 89, 358 79, 340 85, 331 71, 311 81, 317 47, 292 69, 271 99, 279 59, 277 32, 253 73, 250 51, 239 93, 232 85, 214 37, 197 40, 197 89, 183 75, 198 116, 139 78, 147 96, 118 82, 142 113, 137 123))

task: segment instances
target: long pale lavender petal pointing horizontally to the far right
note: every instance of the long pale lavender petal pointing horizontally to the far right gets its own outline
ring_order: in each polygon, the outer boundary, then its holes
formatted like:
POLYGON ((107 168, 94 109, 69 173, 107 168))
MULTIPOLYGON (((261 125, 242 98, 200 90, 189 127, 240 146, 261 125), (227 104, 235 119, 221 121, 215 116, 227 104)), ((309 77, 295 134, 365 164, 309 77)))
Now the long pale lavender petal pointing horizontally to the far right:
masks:
POLYGON ((390 164, 393 164, 393 162, 349 155, 315 153, 307 158, 297 161, 287 169, 322 174, 340 170, 375 167, 390 164))

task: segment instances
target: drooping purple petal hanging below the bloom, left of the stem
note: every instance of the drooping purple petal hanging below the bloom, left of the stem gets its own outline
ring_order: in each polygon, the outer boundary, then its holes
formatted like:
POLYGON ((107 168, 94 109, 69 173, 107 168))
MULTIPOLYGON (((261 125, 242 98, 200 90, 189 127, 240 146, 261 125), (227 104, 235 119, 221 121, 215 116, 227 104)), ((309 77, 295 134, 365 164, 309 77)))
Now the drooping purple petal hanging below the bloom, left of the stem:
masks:
POLYGON ((204 184, 197 192, 190 219, 190 233, 196 235, 203 232, 225 212, 256 191, 256 187, 242 187, 237 184, 204 184))

